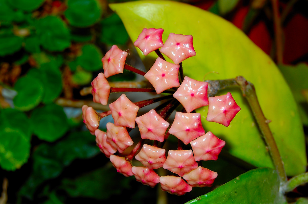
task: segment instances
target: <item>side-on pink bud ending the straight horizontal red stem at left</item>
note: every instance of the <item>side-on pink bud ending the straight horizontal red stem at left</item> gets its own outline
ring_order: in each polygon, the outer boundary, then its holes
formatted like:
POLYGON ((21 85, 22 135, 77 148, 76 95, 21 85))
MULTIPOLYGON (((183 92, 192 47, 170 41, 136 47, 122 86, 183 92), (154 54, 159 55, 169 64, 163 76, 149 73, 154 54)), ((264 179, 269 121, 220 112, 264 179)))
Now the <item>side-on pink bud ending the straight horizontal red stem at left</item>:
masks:
POLYGON ((110 94, 110 86, 103 73, 99 73, 91 82, 93 102, 107 105, 110 94))

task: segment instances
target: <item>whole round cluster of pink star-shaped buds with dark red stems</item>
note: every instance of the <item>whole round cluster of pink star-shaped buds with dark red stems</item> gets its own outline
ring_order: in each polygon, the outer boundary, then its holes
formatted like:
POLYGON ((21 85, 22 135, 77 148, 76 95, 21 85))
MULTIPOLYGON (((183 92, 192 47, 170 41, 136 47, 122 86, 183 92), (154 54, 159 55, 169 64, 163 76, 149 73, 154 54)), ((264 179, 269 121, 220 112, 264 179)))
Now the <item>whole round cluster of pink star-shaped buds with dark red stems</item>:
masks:
POLYGON ((112 92, 144 91, 156 92, 157 97, 144 101, 132 102, 125 94, 109 104, 110 110, 97 113, 92 107, 82 107, 83 120, 96 143, 116 170, 124 176, 135 176, 136 180, 150 187, 160 183, 163 191, 182 195, 193 187, 211 186, 217 173, 202 167, 201 160, 217 160, 225 141, 217 138, 212 132, 205 133, 201 124, 201 115, 195 109, 209 106, 207 121, 229 126, 240 111, 232 95, 208 98, 208 83, 191 79, 183 75, 182 61, 196 55, 193 48, 193 37, 170 33, 163 44, 163 29, 143 29, 134 45, 148 55, 155 51, 158 55, 148 72, 140 71, 125 64, 127 52, 113 45, 103 57, 103 73, 92 81, 93 101, 108 104, 112 92), (173 63, 167 62, 164 56, 173 63), (120 74, 123 69, 143 75, 152 84, 145 88, 110 87, 106 78, 120 74), (164 93, 164 94, 161 94, 164 93), (160 95, 161 94, 161 95, 160 95), (138 114, 139 109, 160 102, 146 114, 138 114), (175 110, 174 120, 169 117, 175 110), (107 123, 107 131, 99 127, 102 117, 112 115, 114 123, 107 123), (134 145, 129 132, 138 127, 140 140, 134 145), (168 150, 164 144, 169 135, 178 138, 177 149, 168 150), (190 145, 189 145, 190 144, 190 145), (139 166, 132 166, 132 160, 140 161, 139 166), (142 166, 141 166, 142 165, 142 166), (160 176, 156 169, 169 170, 167 176, 160 176))

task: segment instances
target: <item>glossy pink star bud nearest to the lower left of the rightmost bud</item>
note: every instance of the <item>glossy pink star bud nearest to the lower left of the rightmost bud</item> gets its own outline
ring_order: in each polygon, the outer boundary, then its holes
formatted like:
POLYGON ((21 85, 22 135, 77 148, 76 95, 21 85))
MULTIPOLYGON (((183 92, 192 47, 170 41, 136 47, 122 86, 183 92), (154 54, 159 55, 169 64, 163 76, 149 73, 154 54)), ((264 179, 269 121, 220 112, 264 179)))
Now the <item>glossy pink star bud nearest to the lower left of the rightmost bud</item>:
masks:
POLYGON ((188 144, 197 137, 205 134, 201 124, 201 114, 176 112, 174 121, 168 132, 182 140, 184 144, 188 144))

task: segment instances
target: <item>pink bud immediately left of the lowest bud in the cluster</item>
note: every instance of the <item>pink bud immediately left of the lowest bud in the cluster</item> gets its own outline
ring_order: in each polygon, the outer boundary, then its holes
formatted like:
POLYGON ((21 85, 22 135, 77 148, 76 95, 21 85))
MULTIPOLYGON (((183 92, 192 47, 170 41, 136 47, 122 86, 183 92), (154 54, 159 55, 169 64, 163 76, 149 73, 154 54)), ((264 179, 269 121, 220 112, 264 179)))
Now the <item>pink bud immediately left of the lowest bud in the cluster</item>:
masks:
POLYGON ((132 172, 135 175, 136 180, 144 185, 153 188, 157 183, 159 183, 159 175, 148 167, 132 167, 132 172))

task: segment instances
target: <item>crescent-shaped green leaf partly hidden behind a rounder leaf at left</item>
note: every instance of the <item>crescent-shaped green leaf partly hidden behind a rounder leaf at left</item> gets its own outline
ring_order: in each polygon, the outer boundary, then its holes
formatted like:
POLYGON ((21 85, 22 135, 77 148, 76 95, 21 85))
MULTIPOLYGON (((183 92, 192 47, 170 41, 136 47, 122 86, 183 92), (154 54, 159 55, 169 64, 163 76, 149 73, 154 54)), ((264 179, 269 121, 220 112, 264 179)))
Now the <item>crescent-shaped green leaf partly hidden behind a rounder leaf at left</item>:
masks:
POLYGON ((32 68, 27 75, 39 79, 44 88, 42 102, 49 103, 54 101, 62 92, 62 78, 60 71, 48 68, 32 68))

